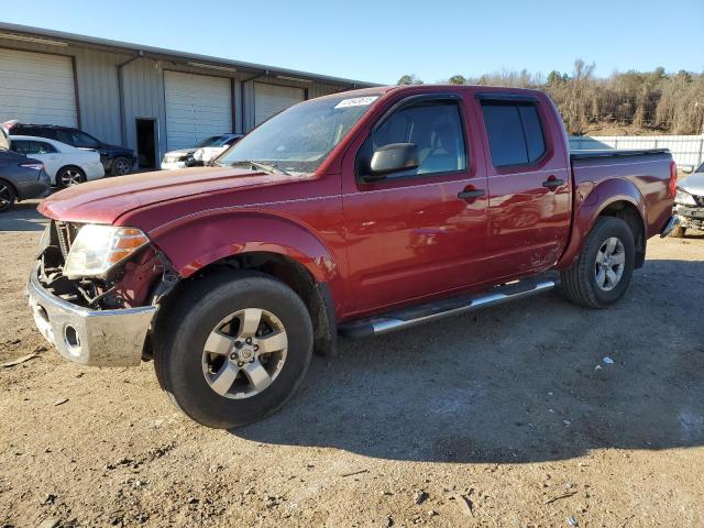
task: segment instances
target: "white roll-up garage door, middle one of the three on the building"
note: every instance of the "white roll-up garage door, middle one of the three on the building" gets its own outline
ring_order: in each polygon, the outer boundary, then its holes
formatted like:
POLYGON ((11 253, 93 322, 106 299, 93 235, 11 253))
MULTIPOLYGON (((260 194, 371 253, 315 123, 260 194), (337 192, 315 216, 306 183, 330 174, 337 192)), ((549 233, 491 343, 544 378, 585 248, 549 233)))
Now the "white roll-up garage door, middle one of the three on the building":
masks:
POLYGON ((167 150, 232 132, 232 84, 208 75, 164 72, 167 150))

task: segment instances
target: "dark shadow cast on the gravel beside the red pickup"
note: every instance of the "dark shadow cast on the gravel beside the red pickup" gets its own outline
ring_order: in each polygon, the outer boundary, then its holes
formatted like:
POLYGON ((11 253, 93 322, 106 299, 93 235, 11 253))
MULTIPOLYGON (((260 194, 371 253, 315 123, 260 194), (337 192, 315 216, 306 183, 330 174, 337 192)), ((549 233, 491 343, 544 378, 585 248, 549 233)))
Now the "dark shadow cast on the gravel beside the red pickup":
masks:
POLYGON ((702 446, 703 304, 704 262, 649 261, 607 310, 552 293, 342 341, 284 409, 232 432, 438 462, 702 446))

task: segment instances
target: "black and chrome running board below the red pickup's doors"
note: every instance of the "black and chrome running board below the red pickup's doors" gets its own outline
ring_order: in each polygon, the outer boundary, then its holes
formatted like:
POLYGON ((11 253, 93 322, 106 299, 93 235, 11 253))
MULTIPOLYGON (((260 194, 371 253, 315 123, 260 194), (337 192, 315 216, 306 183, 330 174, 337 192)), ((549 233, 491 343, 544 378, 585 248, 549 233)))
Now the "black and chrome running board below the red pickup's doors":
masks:
POLYGON ((382 336, 396 330, 404 330, 417 324, 422 324, 424 322, 435 321, 443 317, 457 316, 459 314, 501 305, 509 300, 530 297, 548 292, 554 288, 557 284, 558 280, 552 278, 524 279, 496 286, 481 294, 450 297, 426 305, 389 311, 367 319, 345 322, 338 326, 338 332, 345 338, 352 339, 382 336))

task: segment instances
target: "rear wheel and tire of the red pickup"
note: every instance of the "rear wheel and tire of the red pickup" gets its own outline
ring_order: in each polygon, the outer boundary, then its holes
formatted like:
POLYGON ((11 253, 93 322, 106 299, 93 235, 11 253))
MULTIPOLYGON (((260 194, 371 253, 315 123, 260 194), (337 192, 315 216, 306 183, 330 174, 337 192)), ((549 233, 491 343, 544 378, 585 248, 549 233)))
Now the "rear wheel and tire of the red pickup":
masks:
POLYGON ((560 274, 568 299, 588 308, 606 308, 620 299, 634 273, 635 248, 626 222, 598 218, 578 260, 560 274))

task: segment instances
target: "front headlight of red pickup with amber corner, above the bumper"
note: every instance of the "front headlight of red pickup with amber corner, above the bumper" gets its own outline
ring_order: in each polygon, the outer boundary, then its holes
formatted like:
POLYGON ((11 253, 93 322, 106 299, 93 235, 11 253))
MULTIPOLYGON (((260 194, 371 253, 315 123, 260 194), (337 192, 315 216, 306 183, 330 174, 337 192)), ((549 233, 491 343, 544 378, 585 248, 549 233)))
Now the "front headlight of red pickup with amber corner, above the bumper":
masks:
POLYGON ((103 276, 147 242, 139 229, 86 224, 70 246, 64 275, 68 278, 103 276))

